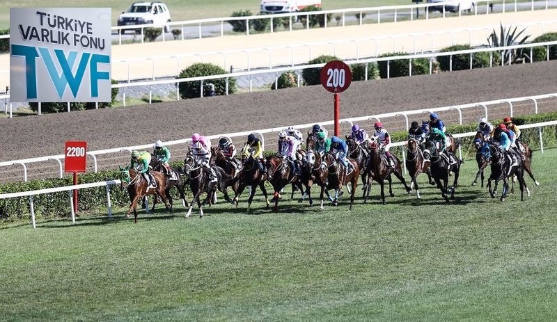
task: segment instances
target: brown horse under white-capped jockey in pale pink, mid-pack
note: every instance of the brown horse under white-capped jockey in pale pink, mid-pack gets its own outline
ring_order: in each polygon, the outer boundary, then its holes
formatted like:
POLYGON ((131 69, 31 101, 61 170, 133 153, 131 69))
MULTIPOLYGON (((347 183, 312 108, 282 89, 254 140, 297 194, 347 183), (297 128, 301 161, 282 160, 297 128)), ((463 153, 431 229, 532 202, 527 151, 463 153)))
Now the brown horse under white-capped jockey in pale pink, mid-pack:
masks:
POLYGON ((267 180, 271 183, 274 189, 273 199, 274 202, 273 211, 278 211, 278 200, 281 199, 280 191, 287 184, 296 184, 297 188, 302 191, 302 186, 299 181, 299 177, 294 175, 292 166, 290 162, 283 159, 282 156, 271 156, 265 161, 265 168, 267 168, 267 175, 269 176, 267 180))

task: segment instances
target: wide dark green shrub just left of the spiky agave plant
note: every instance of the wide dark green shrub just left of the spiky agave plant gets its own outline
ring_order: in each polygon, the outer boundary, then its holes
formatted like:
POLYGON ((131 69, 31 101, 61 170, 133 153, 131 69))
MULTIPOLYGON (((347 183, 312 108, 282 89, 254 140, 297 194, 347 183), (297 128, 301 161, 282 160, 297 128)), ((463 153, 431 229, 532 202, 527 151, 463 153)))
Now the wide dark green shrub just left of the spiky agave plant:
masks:
MULTIPOLYGON (((470 45, 454 45, 441 49, 442 53, 447 53, 450 51, 459 51, 472 49, 470 45)), ((499 65, 499 57, 501 55, 498 52, 493 53, 493 65, 499 65)), ((441 70, 450 70, 450 56, 439 56, 437 57, 437 62, 439 62, 439 67, 441 70)), ((489 52, 474 53, 472 59, 472 68, 482 68, 489 67, 489 52)), ((470 54, 460 54, 453 55, 453 70, 469 70, 470 69, 470 54)))

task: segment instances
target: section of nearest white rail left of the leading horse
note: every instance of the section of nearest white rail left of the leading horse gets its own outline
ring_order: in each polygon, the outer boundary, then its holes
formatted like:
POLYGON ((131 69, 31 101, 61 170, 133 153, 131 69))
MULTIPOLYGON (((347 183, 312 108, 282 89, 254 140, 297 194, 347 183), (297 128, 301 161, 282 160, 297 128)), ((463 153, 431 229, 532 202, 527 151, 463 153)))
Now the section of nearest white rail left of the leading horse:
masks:
POLYGON ((72 223, 75 223, 75 212, 74 212, 74 194, 72 193, 74 190, 85 189, 85 188, 95 188, 98 186, 107 186, 107 211, 109 217, 112 216, 112 205, 110 202, 110 186, 112 184, 120 184, 120 180, 110 180, 104 182, 93 182, 91 184, 76 184, 74 186, 59 186, 56 188, 48 188, 48 189, 40 189, 40 190, 33 190, 33 191, 23 191, 20 193, 5 193, 0 195, 0 199, 7 199, 7 198, 18 198, 18 197, 29 197, 29 209, 31 209, 31 222, 33 223, 33 228, 37 227, 36 220, 35 220, 35 209, 33 207, 33 196, 34 195, 42 195, 45 193, 57 193, 61 191, 70 191, 70 208, 72 209, 72 223))

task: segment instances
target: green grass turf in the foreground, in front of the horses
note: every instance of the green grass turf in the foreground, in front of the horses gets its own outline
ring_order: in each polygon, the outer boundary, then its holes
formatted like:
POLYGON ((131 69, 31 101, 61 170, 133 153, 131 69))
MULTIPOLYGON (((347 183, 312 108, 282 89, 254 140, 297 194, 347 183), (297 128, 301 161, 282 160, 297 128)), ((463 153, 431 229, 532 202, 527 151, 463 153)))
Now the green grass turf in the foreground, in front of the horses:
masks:
MULTIPOLYGON (((535 152, 541 186, 489 198, 462 167, 455 202, 324 211, 283 200, 245 214, 219 202, 185 219, 157 208, 0 227, 0 321, 555 321, 557 150, 535 152), (207 216, 210 215, 210 216, 207 216)), ((345 202, 345 200, 343 200, 345 202)))

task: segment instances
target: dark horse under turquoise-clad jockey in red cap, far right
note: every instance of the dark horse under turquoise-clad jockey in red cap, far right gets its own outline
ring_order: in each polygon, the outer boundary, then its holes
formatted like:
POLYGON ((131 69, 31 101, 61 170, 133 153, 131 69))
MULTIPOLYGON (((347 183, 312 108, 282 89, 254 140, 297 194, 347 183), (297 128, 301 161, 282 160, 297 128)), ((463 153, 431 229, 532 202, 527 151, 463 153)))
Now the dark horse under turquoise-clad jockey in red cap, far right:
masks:
POLYGON ((497 193, 497 184, 500 180, 503 180, 503 192, 501 193, 500 200, 505 201, 509 191, 509 177, 516 175, 520 186, 520 200, 524 201, 524 188, 528 191, 528 195, 530 195, 530 190, 524 181, 524 163, 520 156, 515 156, 515 160, 511 161, 499 150, 498 147, 489 143, 487 143, 487 148, 483 150, 483 153, 485 154, 485 157, 489 157, 491 159, 492 163, 492 173, 487 179, 489 195, 491 195, 492 198, 495 198, 497 193), (492 181, 495 182, 493 189, 492 181))

